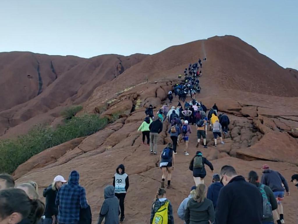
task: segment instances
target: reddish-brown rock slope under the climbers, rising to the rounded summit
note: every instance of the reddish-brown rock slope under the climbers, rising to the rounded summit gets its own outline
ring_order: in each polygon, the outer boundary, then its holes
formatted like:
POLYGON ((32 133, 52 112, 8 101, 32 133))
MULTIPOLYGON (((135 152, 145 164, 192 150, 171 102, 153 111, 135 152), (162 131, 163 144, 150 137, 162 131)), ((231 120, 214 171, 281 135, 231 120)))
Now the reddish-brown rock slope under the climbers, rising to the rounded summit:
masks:
MULTIPOLYGON (((203 58, 204 53, 207 62, 203 62, 203 76, 200 78, 202 92, 196 95, 196 99, 201 100, 207 108, 216 103, 219 113, 229 116, 229 133, 224 137, 225 144, 215 148, 212 133, 208 132, 208 148, 204 149, 202 145, 196 148, 196 130, 192 126, 189 157, 183 154, 185 144, 179 144, 171 182, 173 188, 167 190, 167 198, 173 204, 175 222, 180 222, 176 215, 180 202, 194 185, 188 166, 199 149, 212 162, 217 173, 226 164, 233 165, 238 174, 244 177, 251 170, 257 171, 261 177, 260 168, 264 163, 278 170, 287 179, 292 193, 291 197, 285 197, 284 200, 285 221, 294 223, 298 192, 291 185, 290 178, 292 174, 298 173, 295 71, 279 67, 252 46, 232 36, 170 47, 147 56, 112 81, 95 88, 84 101, 82 113, 111 116, 119 111, 122 118, 91 136, 66 142, 32 157, 15 171, 18 182, 34 179, 42 191, 55 175, 68 177, 70 171, 79 171, 80 184, 86 188, 95 217, 93 223, 96 223, 104 200, 103 189, 112 183, 115 169, 122 163, 130 179, 125 198, 125 218, 129 223, 148 223, 162 175, 158 168, 159 154, 165 144, 170 142, 167 134, 170 126, 164 122, 163 131, 159 134, 157 156, 149 154, 149 147, 142 144, 142 134, 137 132, 137 128, 145 118, 145 107, 152 104, 156 116, 158 109, 168 102, 166 94, 171 86, 179 82, 177 75, 189 63, 203 58), (274 82, 273 79, 278 81, 274 82), (278 82, 282 82, 286 88, 283 85, 277 88, 278 82), (101 110, 103 107, 107 107, 105 111, 101 110), (57 150, 59 157, 55 156, 57 150)), ((119 70, 118 63, 113 71, 119 70)), ((178 98, 174 98, 172 105, 177 104, 178 98)), ((208 167, 206 170, 205 183, 209 185, 212 173, 208 167)))

